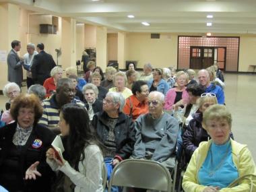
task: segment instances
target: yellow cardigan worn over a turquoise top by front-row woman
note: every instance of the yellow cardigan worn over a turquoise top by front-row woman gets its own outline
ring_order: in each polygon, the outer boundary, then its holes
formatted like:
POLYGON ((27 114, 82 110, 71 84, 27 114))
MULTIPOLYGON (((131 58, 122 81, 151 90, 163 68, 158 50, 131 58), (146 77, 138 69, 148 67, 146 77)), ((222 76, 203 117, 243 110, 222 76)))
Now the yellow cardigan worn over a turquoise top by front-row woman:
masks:
MULTIPOLYGON (((253 161, 253 157, 251 156, 251 152, 247 148, 246 145, 238 143, 236 141, 231 140, 231 148, 232 148, 232 159, 234 162, 234 166, 236 166, 238 170, 239 177, 244 176, 245 174, 255 174, 256 168, 255 163, 253 161)), ((199 185, 198 183, 198 172, 205 158, 207 156, 208 150, 211 146, 212 140, 203 141, 199 144, 199 148, 195 150, 193 156, 187 166, 187 170, 183 177, 183 189, 185 192, 202 192, 207 186, 199 185)), ((255 177, 251 177, 253 181, 253 191, 256 191, 256 179, 255 177)), ((222 188, 220 192, 249 192, 251 189, 251 182, 248 179, 244 179, 237 185, 232 188, 222 188)))

